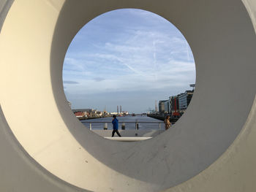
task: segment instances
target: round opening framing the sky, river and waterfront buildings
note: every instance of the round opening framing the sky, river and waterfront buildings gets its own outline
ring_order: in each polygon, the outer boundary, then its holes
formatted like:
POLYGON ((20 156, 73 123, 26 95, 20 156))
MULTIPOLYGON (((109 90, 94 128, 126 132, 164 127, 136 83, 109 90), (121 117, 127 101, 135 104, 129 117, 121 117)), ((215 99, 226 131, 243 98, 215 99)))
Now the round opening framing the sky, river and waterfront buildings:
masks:
POLYGON ((64 59, 63 83, 87 128, 108 138, 114 126, 116 136, 149 139, 187 110, 195 61, 187 40, 165 18, 117 9, 80 29, 64 59))

